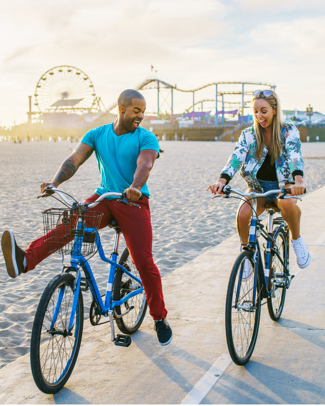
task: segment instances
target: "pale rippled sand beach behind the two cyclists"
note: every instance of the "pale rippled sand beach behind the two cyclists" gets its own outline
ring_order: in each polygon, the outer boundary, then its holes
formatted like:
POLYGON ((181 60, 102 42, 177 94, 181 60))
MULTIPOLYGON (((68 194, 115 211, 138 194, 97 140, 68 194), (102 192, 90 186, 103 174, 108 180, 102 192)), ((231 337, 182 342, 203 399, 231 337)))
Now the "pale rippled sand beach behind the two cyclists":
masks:
MULTIPOLYGON (((218 178, 234 144, 166 141, 160 147, 165 151, 154 165, 148 187, 153 255, 164 276, 234 234, 238 202, 235 199, 212 201, 205 192, 206 186, 218 178)), ((325 143, 303 143, 302 152, 305 183, 311 192, 325 184, 325 143)), ((66 142, 0 143, 0 233, 11 229, 22 248, 43 234, 41 211, 60 207, 51 198, 36 199, 36 196, 39 184, 50 181, 68 155, 66 142)), ((61 190, 82 201, 99 184, 97 163, 95 156, 91 156, 61 190)), ((245 182, 237 174, 232 186, 243 190, 245 182)), ((111 252, 113 238, 112 229, 101 231, 104 251, 111 252)), ((120 252, 122 249, 123 241, 120 252)), ((104 266, 99 256, 91 259, 103 292, 108 274, 104 266)), ((11 279, 0 252, 0 367, 29 352, 30 331, 39 298, 61 267, 62 257, 52 255, 35 270, 11 279)), ((88 292, 84 300, 88 318, 91 302, 88 292)))

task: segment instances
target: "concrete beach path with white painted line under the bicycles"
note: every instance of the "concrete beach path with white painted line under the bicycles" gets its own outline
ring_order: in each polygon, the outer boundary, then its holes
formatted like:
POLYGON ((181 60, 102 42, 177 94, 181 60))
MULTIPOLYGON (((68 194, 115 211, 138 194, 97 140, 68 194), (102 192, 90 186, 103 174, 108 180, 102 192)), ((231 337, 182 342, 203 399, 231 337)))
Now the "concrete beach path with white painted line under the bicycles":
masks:
POLYGON ((262 307, 257 344, 244 367, 227 367, 224 328, 228 278, 239 253, 234 235, 163 278, 173 328, 169 346, 159 346, 149 314, 128 348, 111 343, 109 324, 93 327, 87 320, 65 388, 55 395, 41 393, 26 354, 0 370, 0 403, 180 404, 199 399, 202 404, 324 404, 324 201, 325 187, 299 202, 301 235, 312 262, 299 270, 290 252, 290 271, 296 276, 282 317, 273 322, 267 306, 262 307), (221 376, 213 378, 214 371, 221 376), (215 384, 213 379, 218 379, 215 384), (204 397, 195 397, 204 387, 204 397))

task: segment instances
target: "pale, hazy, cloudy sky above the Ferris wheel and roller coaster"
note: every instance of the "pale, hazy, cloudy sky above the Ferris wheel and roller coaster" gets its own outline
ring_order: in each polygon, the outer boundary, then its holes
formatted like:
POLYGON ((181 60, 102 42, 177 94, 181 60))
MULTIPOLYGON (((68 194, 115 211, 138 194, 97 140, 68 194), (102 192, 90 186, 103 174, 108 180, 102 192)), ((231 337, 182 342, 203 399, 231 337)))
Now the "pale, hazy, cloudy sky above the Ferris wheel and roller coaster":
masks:
MULTIPOLYGON (((282 108, 310 104, 325 114, 324 38, 324 0, 2 0, 0 126, 27 121, 28 95, 58 65, 87 73, 105 106, 154 75, 180 89, 269 82, 282 108)), ((157 109, 156 92, 143 92, 147 112, 157 109)), ((195 98, 214 93, 210 87, 195 98)), ((192 99, 174 94, 174 113, 192 99)))

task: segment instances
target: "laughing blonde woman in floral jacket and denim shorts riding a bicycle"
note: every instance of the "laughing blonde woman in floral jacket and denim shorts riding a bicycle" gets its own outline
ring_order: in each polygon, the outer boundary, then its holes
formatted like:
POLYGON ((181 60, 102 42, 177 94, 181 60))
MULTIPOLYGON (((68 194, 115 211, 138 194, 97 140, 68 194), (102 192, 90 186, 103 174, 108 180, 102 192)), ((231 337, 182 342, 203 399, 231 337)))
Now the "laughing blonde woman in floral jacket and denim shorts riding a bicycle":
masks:
MULTIPOLYGON (((280 100, 274 91, 256 90, 253 96, 254 125, 242 131, 234 153, 221 171, 219 179, 209 185, 207 190, 222 194, 223 186, 241 169, 241 176, 248 187, 247 192, 265 193, 278 189, 279 183, 284 182, 285 188, 290 188, 293 196, 303 194, 304 165, 299 131, 293 124, 282 119, 280 100)), ((259 198, 256 214, 262 214, 269 203, 277 205, 282 218, 289 226, 298 266, 306 268, 311 257, 300 235, 301 210, 297 200, 280 200, 275 199, 276 196, 270 194, 268 197, 259 198)), ((251 205, 241 201, 237 210, 236 227, 243 245, 248 243, 251 214, 251 205)))

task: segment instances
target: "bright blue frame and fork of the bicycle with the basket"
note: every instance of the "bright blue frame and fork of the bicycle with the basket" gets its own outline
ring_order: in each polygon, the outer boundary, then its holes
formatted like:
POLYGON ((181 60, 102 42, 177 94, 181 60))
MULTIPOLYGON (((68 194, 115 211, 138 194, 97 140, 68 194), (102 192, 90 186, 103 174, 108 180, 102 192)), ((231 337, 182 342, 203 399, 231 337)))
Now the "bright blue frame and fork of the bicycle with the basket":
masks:
MULTIPOLYGON (((76 225, 76 230, 80 230, 82 227, 81 222, 79 224, 76 225)), ((93 233, 96 230, 91 228, 91 227, 85 227, 83 229, 83 231, 85 233, 93 233)), ((100 238, 99 238, 99 234, 97 232, 96 234, 96 246, 98 248, 98 253, 100 255, 100 258, 102 259, 102 261, 110 263, 111 267, 110 267, 110 271, 108 274, 108 282, 107 282, 107 287, 106 287, 106 296, 105 296, 105 302, 103 302, 102 297, 100 295, 95 277, 93 275, 93 272, 91 270, 91 267, 88 263, 88 261, 86 260, 85 257, 83 257, 82 255, 80 255, 80 249, 82 247, 82 242, 83 242, 83 234, 81 233, 80 235, 76 235, 75 239, 74 239, 74 245, 72 248, 72 255, 71 255, 71 259, 70 259, 70 270, 69 271, 75 271, 77 272, 77 276, 76 279, 74 281, 74 287, 73 290, 74 292, 79 292, 80 289, 80 281, 81 281, 81 273, 80 273, 80 269, 78 268, 78 265, 82 266, 82 269, 85 272, 85 276, 86 279, 88 281, 89 284, 89 289, 91 291, 91 294, 93 295, 93 298, 95 299, 95 302, 98 306, 98 309, 100 309, 100 313, 104 316, 110 316, 112 315, 112 311, 115 307, 117 306, 121 306, 121 304, 123 304, 124 302, 126 302, 127 300, 129 300, 130 298, 132 298, 133 296, 136 296, 138 294, 141 294, 143 292, 143 285, 141 282, 141 279, 137 278, 136 276, 132 275, 131 272, 129 272, 126 268, 124 268, 124 266, 120 265, 119 263, 117 263, 117 256, 118 256, 118 247, 119 247, 119 237, 120 237, 120 231, 116 232, 115 234, 115 242, 114 242, 114 250, 112 253, 112 259, 108 259, 105 257, 104 254, 104 250, 102 247, 102 244, 100 242, 100 238), (114 278, 115 278, 115 270, 116 268, 121 269, 124 273, 126 273, 128 276, 130 276, 130 278, 132 278, 134 281, 137 281, 140 284, 140 287, 138 289, 135 289, 133 292, 130 292, 129 294, 127 294, 126 296, 123 297, 122 300, 116 300, 113 301, 112 300, 112 289, 113 289, 113 282, 114 282, 114 278)), ((61 289, 61 292, 58 296, 57 302, 56 302, 56 307, 55 307, 55 311, 53 314, 53 319, 52 319, 52 323, 51 323, 51 328, 54 326, 55 322, 56 322, 56 318, 58 316, 58 311, 61 307, 61 301, 63 298, 63 294, 64 291, 63 289, 61 289)), ((68 333, 70 333, 70 331, 73 328, 73 320, 74 320, 74 315, 76 313, 76 306, 77 306, 77 302, 78 302, 78 294, 74 294, 74 299, 72 302, 72 309, 71 309, 71 314, 70 314, 70 319, 69 319, 69 329, 68 329, 68 333)))

